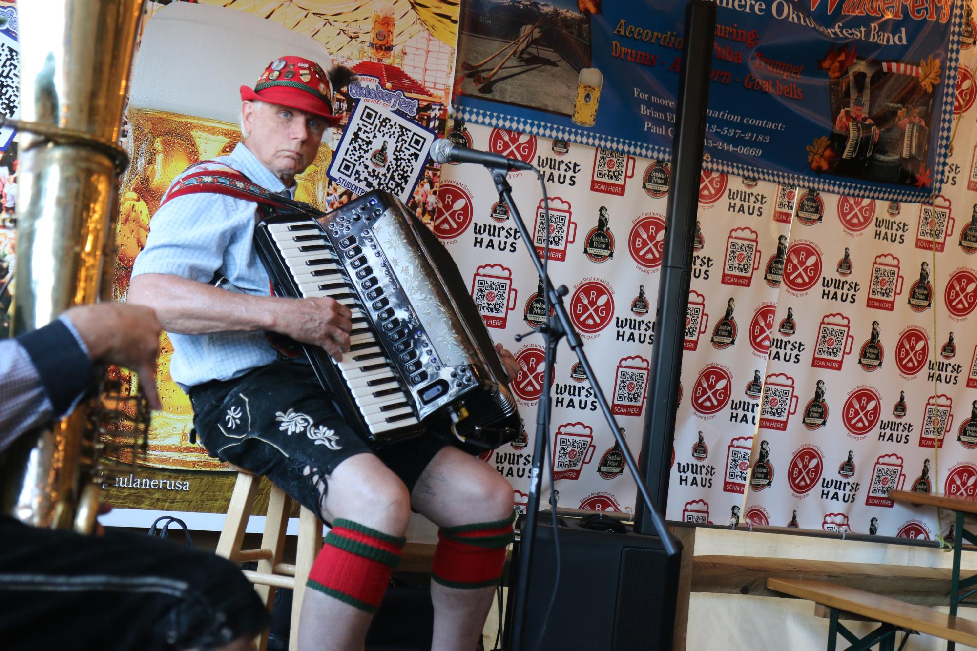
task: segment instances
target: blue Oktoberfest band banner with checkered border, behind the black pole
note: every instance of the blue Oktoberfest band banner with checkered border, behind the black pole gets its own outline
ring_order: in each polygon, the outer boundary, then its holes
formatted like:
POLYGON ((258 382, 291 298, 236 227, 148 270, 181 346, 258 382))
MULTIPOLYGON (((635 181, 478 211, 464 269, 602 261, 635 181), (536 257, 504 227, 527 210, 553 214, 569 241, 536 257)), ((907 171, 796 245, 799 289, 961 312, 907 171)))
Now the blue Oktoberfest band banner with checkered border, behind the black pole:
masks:
MULTIPOLYGON (((975 98, 969 70, 957 84, 973 38, 964 3, 716 4, 707 170, 898 201, 939 193, 951 118, 975 98)), ((453 110, 621 152, 597 154, 594 183, 623 190, 626 154, 671 157, 684 14, 666 0, 471 0, 453 110)))

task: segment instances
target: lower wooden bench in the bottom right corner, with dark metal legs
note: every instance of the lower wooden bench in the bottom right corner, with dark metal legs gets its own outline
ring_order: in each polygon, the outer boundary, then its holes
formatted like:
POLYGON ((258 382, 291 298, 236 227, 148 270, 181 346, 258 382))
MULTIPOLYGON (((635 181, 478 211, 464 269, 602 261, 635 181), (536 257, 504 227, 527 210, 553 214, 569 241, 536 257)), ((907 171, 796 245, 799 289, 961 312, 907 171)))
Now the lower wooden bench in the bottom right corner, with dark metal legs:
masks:
MULTIPOLYGON (((917 606, 827 581, 771 578, 767 580, 767 587, 814 601, 831 609, 828 651, 834 650, 838 634, 852 643, 849 647, 852 651, 870 649, 874 644, 880 644, 879 648, 883 650, 893 649, 896 631, 900 630, 924 632, 952 642, 977 646, 977 622, 945 615, 925 606, 917 606), (881 626, 865 637, 859 638, 838 622, 841 612, 853 613, 871 621, 881 622, 881 626)), ((903 644, 905 643, 904 638, 903 644)))

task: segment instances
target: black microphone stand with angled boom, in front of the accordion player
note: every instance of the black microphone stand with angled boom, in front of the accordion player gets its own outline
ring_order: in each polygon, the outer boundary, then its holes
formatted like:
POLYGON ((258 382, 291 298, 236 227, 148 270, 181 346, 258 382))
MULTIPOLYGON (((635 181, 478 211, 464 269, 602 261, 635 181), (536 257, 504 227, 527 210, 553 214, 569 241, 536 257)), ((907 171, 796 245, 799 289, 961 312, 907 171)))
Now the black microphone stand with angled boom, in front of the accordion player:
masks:
MULTIPOLYGON (((526 246, 530 250, 532 264, 535 264, 536 272, 543 281, 543 287, 549 299, 549 305, 553 307, 555 312, 554 316, 556 317, 554 319, 547 313, 546 322, 541 324, 536 330, 546 341, 546 353, 543 366, 542 394, 539 396, 539 408, 536 411, 536 440, 532 450, 530 498, 529 504, 526 507, 526 517, 523 520, 523 527, 520 530, 519 581, 516 587, 516 601, 512 619, 513 631, 510 637, 511 647, 509 649, 509 651, 521 651, 523 647, 523 630, 526 624, 526 595, 529 593, 532 552, 536 535, 536 522, 539 517, 539 487, 540 481, 542 480, 543 459, 545 459, 548 449, 547 441, 549 431, 547 426, 552 411, 550 384, 553 380, 553 365, 556 362, 556 346, 562 338, 567 338, 567 343, 573 349, 573 352, 576 353, 576 358, 579 360, 580 366, 583 367, 583 372, 587 376, 587 380, 590 381, 590 386, 594 388, 597 403, 600 405, 601 412, 607 420, 608 427, 611 427, 611 432, 616 438, 617 445, 624 455, 624 462, 627 464, 627 468, 631 471, 631 476, 634 477, 635 483, 638 485, 638 491, 644 498, 644 505, 650 511, 655 529, 658 532, 658 538, 661 539, 662 547, 669 556, 674 556, 675 554, 681 553, 682 546, 665 528, 664 518, 658 512, 658 509, 655 507, 655 502, 649 495, 648 488, 642 482, 642 474, 638 470, 634 456, 628 449, 627 443, 624 441, 624 437, 617 427, 616 419, 608 404, 607 397, 605 397, 604 391, 601 390, 597 382, 597 377, 594 375, 594 371, 590 366, 590 362, 583 352, 583 342, 580 341, 580 336, 573 329, 570 314, 567 312, 567 307, 563 303, 563 297, 568 294, 567 287, 564 285, 560 287, 553 286, 542 261, 536 255, 530 232, 527 230, 526 224, 519 214, 519 209, 516 207, 516 202, 512 198, 512 186, 509 185, 509 181, 506 179, 509 170, 505 167, 488 167, 488 171, 491 173, 492 181, 495 183, 495 188, 498 190, 499 195, 509 207, 509 214, 512 216, 516 227, 519 228, 519 234, 522 236, 523 242, 526 243, 526 246)), ((537 172, 536 174, 538 176, 539 173, 537 172)), ((553 509, 556 509, 556 504, 553 504, 553 509)))

